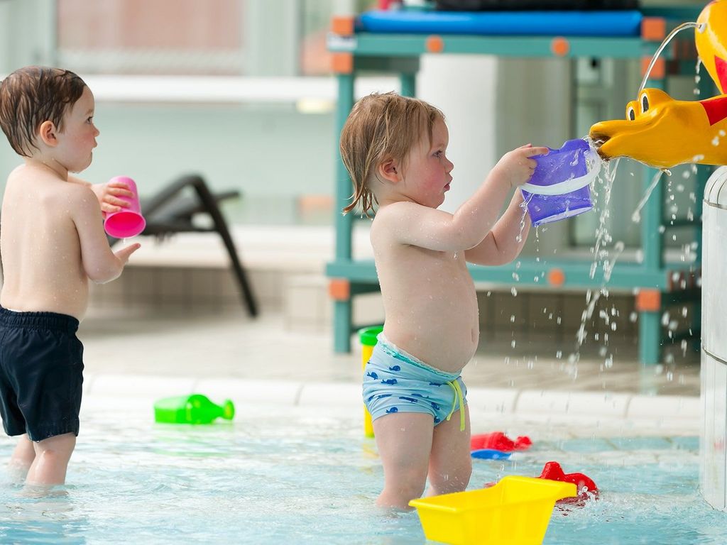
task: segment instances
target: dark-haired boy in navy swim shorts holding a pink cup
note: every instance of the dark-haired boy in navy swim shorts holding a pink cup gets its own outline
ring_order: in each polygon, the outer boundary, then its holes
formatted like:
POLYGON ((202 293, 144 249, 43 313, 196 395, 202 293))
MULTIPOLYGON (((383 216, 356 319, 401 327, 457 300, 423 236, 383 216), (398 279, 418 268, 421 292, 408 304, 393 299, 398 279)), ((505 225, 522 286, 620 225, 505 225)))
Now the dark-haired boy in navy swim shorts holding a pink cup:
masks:
POLYGON ((103 231, 102 211, 128 206, 129 188, 70 174, 91 164, 94 108, 68 70, 28 66, 0 82, 0 126, 23 157, 0 215, 0 415, 21 436, 10 467, 29 485, 65 483, 76 446, 88 280, 117 278, 140 246, 113 252, 103 231))

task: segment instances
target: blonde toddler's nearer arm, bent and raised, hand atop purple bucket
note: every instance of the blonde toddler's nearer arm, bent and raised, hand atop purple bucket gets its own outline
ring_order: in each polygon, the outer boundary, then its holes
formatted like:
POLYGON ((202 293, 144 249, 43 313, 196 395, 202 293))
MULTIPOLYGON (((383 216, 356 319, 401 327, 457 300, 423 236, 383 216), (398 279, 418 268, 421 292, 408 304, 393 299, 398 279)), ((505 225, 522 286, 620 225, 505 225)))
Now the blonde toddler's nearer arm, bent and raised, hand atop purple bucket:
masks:
POLYGON ((401 201, 379 209, 374 224, 377 230, 381 228, 389 233, 387 236, 411 246, 435 251, 473 248, 495 227, 511 187, 524 184, 532 176, 537 163, 531 156, 547 151, 548 148, 527 145, 506 153, 474 195, 454 214, 401 201))

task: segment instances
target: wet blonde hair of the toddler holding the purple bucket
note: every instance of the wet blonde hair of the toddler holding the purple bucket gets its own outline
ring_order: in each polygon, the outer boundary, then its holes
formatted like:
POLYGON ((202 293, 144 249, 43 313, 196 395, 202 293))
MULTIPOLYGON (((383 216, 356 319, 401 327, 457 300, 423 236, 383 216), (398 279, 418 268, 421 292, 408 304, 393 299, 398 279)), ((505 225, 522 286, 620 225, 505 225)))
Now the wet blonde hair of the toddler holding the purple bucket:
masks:
POLYGON ((351 203, 343 213, 360 205, 368 216, 377 203, 369 184, 378 166, 393 160, 405 168, 406 157, 422 134, 432 141, 438 119, 444 119, 438 108, 394 92, 369 94, 356 102, 341 131, 341 158, 353 182, 351 203))

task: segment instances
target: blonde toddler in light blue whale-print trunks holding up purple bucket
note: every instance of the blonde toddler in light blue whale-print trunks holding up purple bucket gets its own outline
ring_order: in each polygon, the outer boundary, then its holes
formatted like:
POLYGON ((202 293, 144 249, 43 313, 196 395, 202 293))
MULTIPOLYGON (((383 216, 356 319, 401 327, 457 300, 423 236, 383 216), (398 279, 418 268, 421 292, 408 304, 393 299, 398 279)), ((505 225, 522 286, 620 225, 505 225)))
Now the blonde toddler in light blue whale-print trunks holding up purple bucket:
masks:
POLYGON ((472 472, 467 389, 460 373, 477 350, 479 318, 467 262, 502 265, 520 254, 529 230, 520 191, 531 158, 506 153, 454 214, 438 210, 452 181, 449 133, 440 110, 395 93, 359 100, 340 151, 356 207, 369 214, 385 324, 364 373, 364 403, 384 467, 379 506, 463 491, 472 472))

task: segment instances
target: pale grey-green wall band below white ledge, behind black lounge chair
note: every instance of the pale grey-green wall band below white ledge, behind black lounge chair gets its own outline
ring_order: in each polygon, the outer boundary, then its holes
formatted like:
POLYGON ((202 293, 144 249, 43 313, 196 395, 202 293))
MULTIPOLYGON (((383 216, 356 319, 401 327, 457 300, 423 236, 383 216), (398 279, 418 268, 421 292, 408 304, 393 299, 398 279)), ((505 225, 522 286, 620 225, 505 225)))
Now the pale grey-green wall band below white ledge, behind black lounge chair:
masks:
MULTIPOLYGON (((82 177, 103 182, 119 174, 153 193, 188 171, 213 187, 249 195, 330 193, 332 115, 244 105, 97 105, 101 134, 82 177)), ((17 161, 3 146, 3 166, 17 161)))

